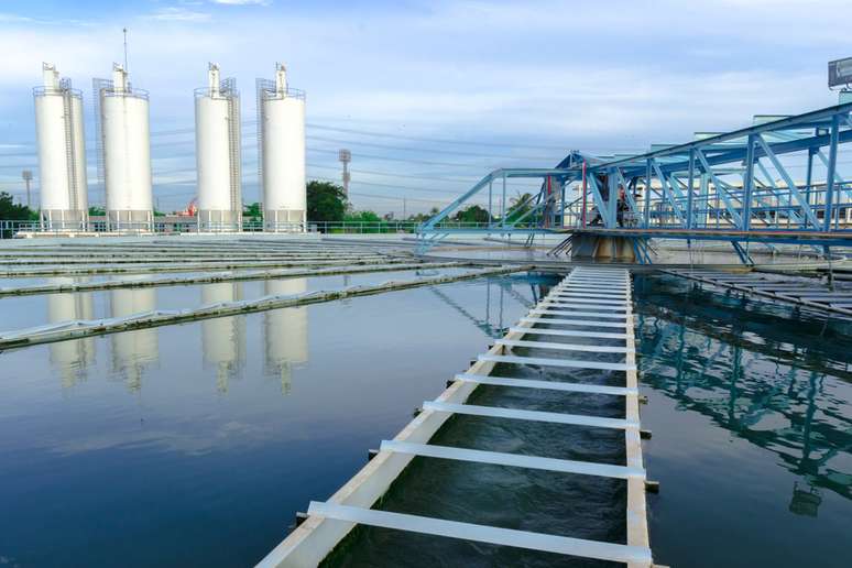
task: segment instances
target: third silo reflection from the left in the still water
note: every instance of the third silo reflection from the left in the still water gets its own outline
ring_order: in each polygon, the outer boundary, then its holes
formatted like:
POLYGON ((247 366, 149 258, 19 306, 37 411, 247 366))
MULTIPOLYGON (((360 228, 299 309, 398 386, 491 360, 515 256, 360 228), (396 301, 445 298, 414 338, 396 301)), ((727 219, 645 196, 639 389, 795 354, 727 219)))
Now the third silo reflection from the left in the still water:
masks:
MULTIPOLYGON (((242 299, 242 284, 218 282, 201 286, 201 304, 218 304, 242 299)), ((207 364, 216 368, 216 387, 228 391, 228 381, 236 376, 245 358, 245 318, 218 317, 201 321, 201 348, 207 364)))

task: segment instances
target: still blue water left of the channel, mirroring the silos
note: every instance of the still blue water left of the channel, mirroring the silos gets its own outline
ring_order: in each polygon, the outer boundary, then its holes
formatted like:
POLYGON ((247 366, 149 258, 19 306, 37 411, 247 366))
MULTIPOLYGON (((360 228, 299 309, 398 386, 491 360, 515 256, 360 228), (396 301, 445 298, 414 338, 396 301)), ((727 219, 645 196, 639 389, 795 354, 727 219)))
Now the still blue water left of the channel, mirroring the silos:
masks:
POLYGON ((0 561, 251 565, 532 302, 483 280, 0 353, 0 561))

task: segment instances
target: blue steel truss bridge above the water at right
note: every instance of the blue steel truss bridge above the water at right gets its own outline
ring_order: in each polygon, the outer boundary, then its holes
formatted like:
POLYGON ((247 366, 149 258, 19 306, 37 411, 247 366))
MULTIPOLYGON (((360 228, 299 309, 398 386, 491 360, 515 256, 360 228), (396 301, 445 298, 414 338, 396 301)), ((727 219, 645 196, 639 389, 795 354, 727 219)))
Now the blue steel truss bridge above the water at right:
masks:
POLYGON ((555 168, 490 173, 419 228, 423 248, 449 234, 591 233, 626 237, 640 262, 652 238, 721 240, 750 262, 743 243, 852 245, 852 181, 838 171, 852 142, 852 103, 794 117, 755 117, 727 133, 699 132, 638 155, 572 151, 555 168), (791 173, 796 172, 796 174, 791 173), (512 184, 540 179, 513 200, 512 184), (476 228, 450 219, 478 205, 476 228))

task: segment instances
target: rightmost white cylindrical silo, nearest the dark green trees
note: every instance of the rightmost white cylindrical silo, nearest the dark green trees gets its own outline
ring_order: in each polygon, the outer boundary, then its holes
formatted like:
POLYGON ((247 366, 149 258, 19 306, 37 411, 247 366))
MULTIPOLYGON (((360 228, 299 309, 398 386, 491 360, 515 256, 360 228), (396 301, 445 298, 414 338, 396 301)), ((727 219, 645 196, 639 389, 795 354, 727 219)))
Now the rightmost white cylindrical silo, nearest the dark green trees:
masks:
POLYGON ((287 87, 282 64, 276 64, 274 84, 258 81, 258 110, 264 230, 304 231, 305 94, 287 87))

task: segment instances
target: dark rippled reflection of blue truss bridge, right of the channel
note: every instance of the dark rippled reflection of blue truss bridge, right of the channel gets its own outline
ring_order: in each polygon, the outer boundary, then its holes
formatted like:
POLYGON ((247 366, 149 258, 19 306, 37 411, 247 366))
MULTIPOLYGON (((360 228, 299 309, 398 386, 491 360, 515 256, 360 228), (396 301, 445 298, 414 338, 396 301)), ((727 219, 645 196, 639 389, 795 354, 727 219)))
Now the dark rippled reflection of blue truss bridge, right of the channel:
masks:
MULTIPOLYGON (((852 499, 843 459, 852 449, 852 420, 846 401, 832 392, 852 381, 848 324, 789 326, 784 308, 746 309, 682 285, 636 286, 645 297, 636 310, 645 384, 776 454, 811 488, 852 499)), ((795 487, 790 511, 816 515, 817 495, 795 487)))

